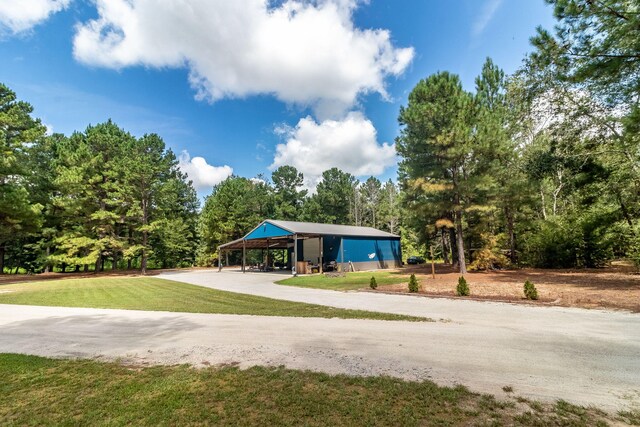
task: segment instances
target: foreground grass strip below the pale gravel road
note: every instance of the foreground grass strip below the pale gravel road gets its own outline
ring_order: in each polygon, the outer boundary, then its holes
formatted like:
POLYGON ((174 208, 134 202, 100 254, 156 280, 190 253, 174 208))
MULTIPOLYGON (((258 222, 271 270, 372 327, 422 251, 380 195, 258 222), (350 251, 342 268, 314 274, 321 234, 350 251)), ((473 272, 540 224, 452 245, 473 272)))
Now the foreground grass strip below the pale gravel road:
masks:
MULTIPOLYGON (((1 425, 606 425, 592 408, 532 413, 462 386, 284 368, 135 368, 0 354, 1 425)), ((624 419, 626 422, 627 420, 624 419)))

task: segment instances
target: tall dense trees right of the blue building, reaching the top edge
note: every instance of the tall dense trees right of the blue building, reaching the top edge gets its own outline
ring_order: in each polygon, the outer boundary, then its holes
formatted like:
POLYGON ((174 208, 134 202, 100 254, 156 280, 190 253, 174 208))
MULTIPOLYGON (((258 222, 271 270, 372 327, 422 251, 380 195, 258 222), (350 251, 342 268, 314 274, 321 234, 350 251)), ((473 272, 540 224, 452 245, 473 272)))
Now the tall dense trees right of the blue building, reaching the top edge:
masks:
POLYGON ((397 138, 403 220, 460 272, 640 267, 640 15, 620 0, 547 0, 514 75, 487 59, 475 92, 421 80, 397 138), (447 250, 445 250, 445 254, 447 250))

